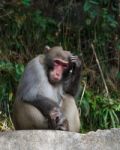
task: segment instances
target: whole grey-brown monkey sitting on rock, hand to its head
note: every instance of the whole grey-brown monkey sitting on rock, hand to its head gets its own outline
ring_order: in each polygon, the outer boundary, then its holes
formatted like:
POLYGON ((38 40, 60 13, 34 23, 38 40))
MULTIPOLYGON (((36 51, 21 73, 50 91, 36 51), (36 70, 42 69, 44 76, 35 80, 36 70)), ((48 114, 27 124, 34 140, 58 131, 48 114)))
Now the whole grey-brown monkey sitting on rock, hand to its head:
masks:
POLYGON ((16 130, 52 129, 79 132, 75 103, 81 61, 60 46, 46 47, 28 62, 13 104, 16 130))

